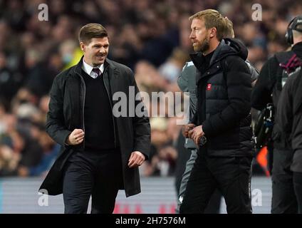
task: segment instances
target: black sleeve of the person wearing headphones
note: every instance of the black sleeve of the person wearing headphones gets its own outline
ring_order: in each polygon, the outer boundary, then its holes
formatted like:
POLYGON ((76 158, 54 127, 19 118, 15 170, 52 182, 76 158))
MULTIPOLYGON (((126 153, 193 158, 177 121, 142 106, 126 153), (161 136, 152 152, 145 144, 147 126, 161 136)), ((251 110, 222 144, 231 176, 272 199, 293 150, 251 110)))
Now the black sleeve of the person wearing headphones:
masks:
POLYGON ((251 92, 251 107, 257 110, 263 110, 267 103, 271 103, 271 93, 276 83, 276 73, 278 61, 272 57, 264 63, 259 77, 251 92))

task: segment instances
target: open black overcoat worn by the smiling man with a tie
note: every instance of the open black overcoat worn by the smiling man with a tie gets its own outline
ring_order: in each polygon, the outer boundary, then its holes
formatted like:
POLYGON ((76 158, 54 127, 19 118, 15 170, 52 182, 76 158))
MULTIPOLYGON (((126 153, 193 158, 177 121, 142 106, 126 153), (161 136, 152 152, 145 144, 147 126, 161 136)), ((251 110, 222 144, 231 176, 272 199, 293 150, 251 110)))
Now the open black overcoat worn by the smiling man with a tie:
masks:
MULTIPOLYGON (((68 135, 75 129, 83 129, 83 114, 85 103, 85 83, 81 76, 83 58, 78 65, 68 68, 66 71, 58 74, 53 81, 47 115, 46 131, 58 144, 61 145, 56 162, 48 172, 43 181, 40 191, 48 195, 59 195, 63 191, 63 169, 68 157, 75 150, 84 150, 85 140, 77 146, 65 144, 68 135)), ((139 90, 135 83, 134 75, 130 68, 123 64, 116 63, 106 59, 103 73, 105 88, 108 90, 110 104, 117 105, 120 100, 113 99, 116 92, 123 92, 127 96, 127 110, 133 110, 133 107, 142 107, 141 100, 135 100, 139 90), (133 90, 129 89, 134 89, 133 90), (135 101, 134 101, 135 100, 135 101), (132 105, 134 103, 134 105, 132 105)), ((124 99, 125 100, 125 99, 124 99)), ((132 112, 135 113, 135 112, 132 112)), ((137 167, 129 168, 127 166, 131 152, 140 151, 146 158, 150 152, 150 123, 147 115, 142 117, 135 115, 120 116, 114 118, 115 141, 119 143, 122 162, 124 189, 127 197, 140 193, 140 175, 137 167)))

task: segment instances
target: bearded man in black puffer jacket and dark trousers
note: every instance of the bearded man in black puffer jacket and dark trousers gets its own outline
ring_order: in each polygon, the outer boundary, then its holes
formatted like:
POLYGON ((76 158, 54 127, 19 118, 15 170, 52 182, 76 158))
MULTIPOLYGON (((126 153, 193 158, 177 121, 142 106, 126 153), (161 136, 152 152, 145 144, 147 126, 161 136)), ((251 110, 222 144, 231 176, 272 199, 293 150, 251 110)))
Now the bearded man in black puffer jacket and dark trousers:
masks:
POLYGON ((223 38, 226 19, 208 9, 190 17, 196 53, 197 112, 189 138, 197 160, 187 182, 180 213, 203 213, 219 189, 228 213, 251 213, 251 75, 245 46, 223 38))

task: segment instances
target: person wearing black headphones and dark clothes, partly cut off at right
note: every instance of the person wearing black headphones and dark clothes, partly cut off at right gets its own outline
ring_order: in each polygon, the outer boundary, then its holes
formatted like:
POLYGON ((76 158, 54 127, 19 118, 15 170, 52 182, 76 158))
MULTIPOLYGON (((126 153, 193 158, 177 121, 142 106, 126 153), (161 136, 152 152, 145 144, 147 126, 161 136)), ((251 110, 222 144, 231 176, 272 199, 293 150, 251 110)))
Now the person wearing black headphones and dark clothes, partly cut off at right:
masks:
MULTIPOLYGON (((299 16, 291 21, 291 25, 298 21, 299 16)), ((302 21, 302 17, 300 16, 302 21)), ((288 31, 289 32, 289 31, 288 31)), ((288 70, 284 66, 289 66, 291 58, 298 56, 302 58, 302 43, 289 41, 292 46, 291 51, 276 53, 269 58, 261 68, 259 78, 251 93, 251 106, 257 110, 263 110, 266 104, 274 105, 274 113, 278 112, 278 100, 281 90, 288 78, 288 70)), ((286 136, 280 130, 279 124, 274 123, 271 135, 273 141, 273 162, 271 170, 272 180, 272 200, 271 213, 273 214, 293 214, 298 212, 298 204, 293 189, 293 173, 291 171, 291 162, 293 150, 286 144, 286 136)))

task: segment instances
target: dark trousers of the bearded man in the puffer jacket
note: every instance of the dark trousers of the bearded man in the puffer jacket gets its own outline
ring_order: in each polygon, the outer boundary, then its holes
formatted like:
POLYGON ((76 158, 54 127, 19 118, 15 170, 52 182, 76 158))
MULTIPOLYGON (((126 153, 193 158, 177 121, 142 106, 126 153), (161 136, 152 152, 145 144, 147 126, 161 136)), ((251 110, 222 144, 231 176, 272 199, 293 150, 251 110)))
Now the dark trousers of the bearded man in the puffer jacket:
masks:
POLYGON ((199 150, 180 213, 204 213, 214 190, 224 196, 228 213, 251 213, 251 157, 209 157, 199 150))

